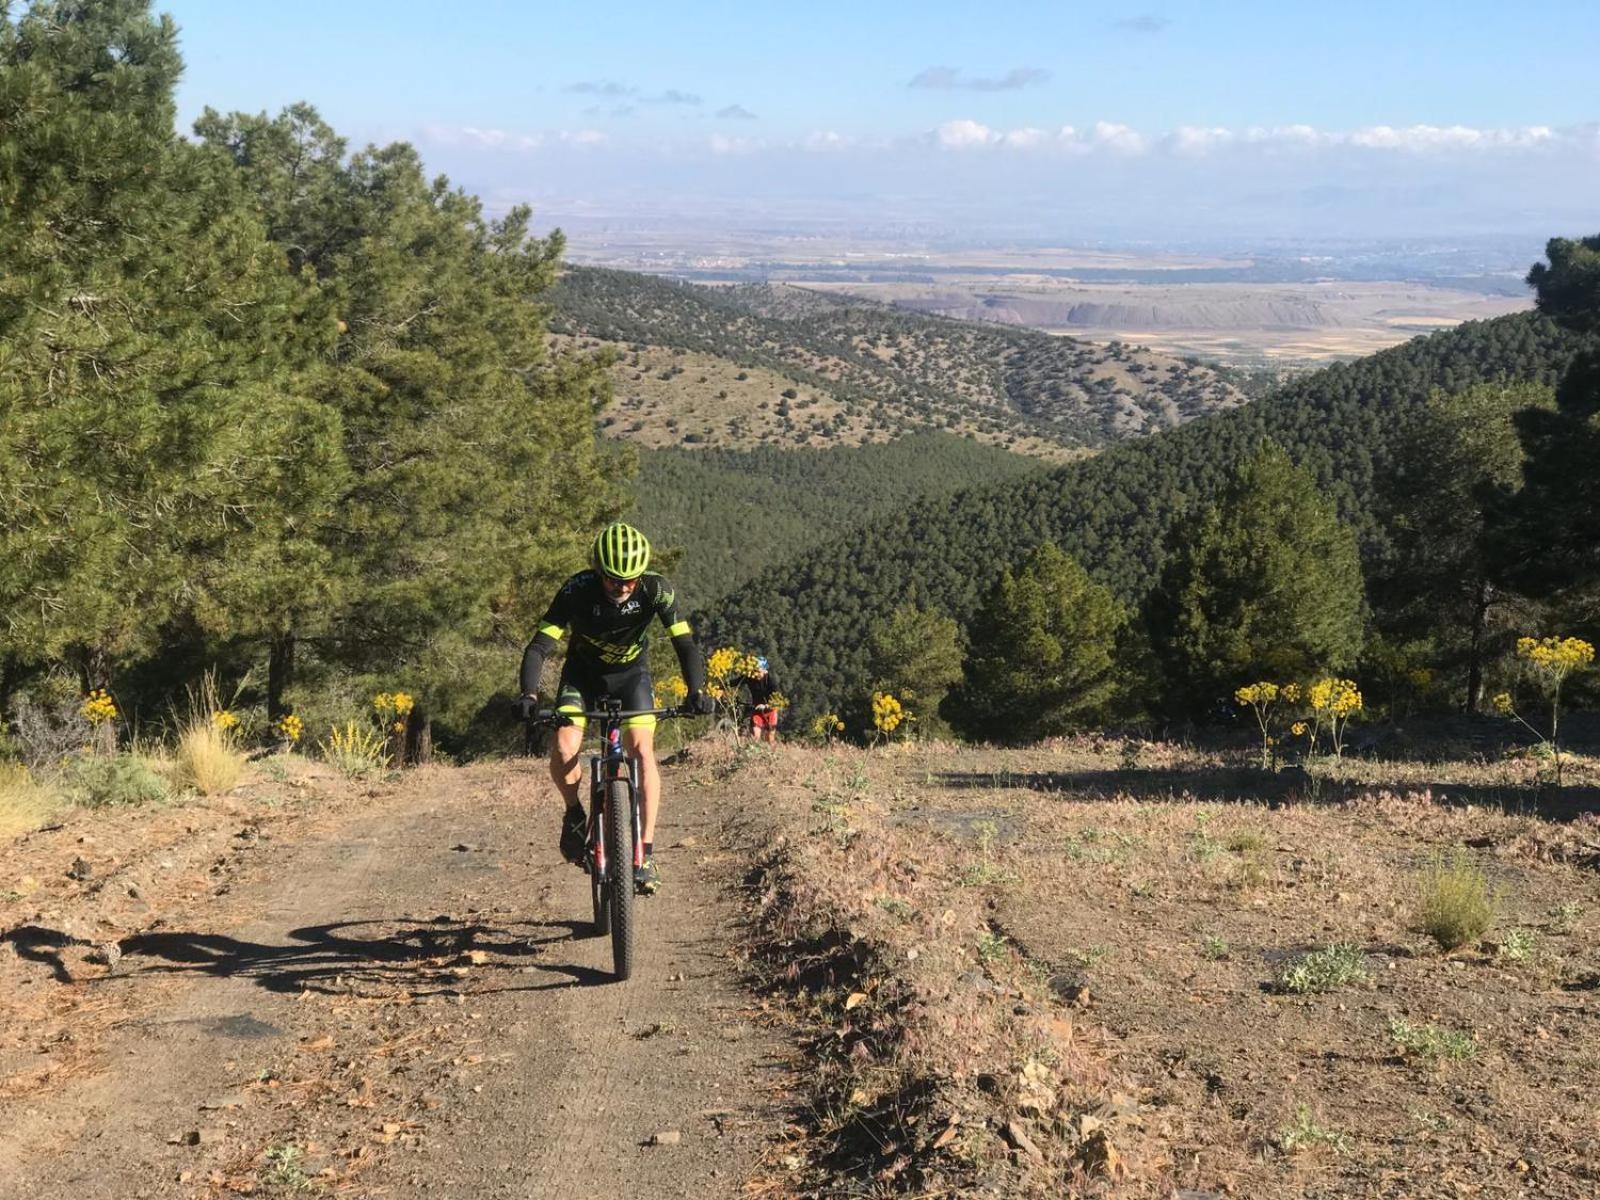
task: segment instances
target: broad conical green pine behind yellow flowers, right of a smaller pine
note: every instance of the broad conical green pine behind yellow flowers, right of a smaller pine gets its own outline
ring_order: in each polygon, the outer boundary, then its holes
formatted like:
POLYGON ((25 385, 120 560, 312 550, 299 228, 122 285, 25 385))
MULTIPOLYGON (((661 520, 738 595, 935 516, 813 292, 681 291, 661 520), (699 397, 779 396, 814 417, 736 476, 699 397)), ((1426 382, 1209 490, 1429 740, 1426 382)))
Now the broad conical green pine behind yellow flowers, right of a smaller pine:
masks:
POLYGON ((1178 526, 1147 619, 1170 702, 1205 712, 1256 678, 1354 666, 1365 626, 1355 534, 1275 445, 1178 526))

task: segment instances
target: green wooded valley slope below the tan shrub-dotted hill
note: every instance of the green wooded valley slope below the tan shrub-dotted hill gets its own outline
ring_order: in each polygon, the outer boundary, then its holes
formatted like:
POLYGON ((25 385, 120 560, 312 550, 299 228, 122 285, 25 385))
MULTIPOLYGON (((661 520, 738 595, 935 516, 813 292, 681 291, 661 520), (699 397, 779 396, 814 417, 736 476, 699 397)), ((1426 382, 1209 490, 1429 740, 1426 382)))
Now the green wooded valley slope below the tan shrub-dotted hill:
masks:
POLYGON ((827 450, 642 450, 634 515, 658 544, 683 549, 674 582, 704 606, 914 501, 1045 469, 950 434, 827 450))

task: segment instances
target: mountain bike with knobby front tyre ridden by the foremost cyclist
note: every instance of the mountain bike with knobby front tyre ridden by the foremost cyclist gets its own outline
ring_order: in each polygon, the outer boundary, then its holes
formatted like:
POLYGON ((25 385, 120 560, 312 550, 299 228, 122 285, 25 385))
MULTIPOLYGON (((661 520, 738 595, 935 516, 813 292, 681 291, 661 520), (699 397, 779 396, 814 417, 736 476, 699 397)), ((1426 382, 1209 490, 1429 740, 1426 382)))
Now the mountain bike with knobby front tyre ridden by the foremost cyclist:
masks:
MULTIPOLYGON (((530 731, 571 725, 578 714, 541 712, 530 731)), ((589 827, 582 867, 589 872, 597 938, 611 934, 611 970, 618 981, 634 973, 638 938, 634 909, 634 869, 645 861, 643 819, 638 808, 638 760, 622 749, 622 722, 629 717, 688 717, 682 709, 624 709, 603 696, 594 712, 600 749, 589 755, 589 827)))

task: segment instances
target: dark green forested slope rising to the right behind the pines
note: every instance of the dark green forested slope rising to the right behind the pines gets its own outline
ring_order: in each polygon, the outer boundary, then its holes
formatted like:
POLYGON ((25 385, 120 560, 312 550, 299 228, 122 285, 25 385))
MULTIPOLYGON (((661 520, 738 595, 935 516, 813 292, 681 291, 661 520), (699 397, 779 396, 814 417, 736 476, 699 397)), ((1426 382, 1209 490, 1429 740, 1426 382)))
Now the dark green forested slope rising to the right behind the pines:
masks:
POLYGON ((968 622, 1002 568, 1056 541, 1123 602, 1150 589, 1174 522, 1262 440, 1309 469, 1368 565, 1389 552, 1374 485, 1435 389, 1554 384, 1579 341, 1538 315, 1472 323, 1298 379, 1267 400, 1016 483, 923 501, 786 563, 718 605, 714 642, 770 648, 803 706, 866 675, 867 635, 899 603, 968 622))

